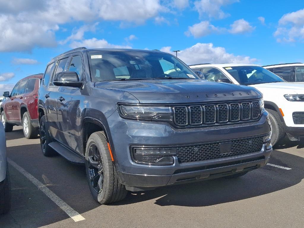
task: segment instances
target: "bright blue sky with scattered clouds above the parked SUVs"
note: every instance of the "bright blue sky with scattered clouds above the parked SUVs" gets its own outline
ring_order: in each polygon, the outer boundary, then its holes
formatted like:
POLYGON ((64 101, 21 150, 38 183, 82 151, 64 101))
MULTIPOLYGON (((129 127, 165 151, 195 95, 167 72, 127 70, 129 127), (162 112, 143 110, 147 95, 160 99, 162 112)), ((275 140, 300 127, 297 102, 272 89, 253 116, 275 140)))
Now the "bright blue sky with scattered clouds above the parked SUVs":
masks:
POLYGON ((304 62, 304 2, 0 0, 0 94, 74 47, 181 50, 187 64, 304 62))

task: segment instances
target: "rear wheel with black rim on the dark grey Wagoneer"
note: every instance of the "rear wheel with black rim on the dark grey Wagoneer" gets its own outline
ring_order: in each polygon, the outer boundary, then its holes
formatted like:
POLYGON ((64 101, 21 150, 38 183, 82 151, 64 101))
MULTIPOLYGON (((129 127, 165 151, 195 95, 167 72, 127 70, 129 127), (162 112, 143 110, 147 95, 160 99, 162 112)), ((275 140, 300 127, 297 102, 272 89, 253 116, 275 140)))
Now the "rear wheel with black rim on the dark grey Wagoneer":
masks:
POLYGON ((42 116, 39 122, 39 135, 40 135, 40 146, 44 156, 53 157, 57 155, 57 152, 49 147, 49 143, 52 142, 49 130, 47 127, 47 121, 45 116, 42 116))

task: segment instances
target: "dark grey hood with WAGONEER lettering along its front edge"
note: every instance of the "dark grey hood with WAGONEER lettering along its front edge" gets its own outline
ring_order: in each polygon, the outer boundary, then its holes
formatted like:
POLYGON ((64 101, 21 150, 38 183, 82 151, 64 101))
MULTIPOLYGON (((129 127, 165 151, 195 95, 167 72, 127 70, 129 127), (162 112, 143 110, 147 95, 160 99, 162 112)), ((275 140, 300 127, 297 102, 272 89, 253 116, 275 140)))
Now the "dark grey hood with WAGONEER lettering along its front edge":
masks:
POLYGON ((95 87, 128 92, 140 103, 195 103, 261 98, 254 88, 205 80, 141 80, 96 82, 95 87))

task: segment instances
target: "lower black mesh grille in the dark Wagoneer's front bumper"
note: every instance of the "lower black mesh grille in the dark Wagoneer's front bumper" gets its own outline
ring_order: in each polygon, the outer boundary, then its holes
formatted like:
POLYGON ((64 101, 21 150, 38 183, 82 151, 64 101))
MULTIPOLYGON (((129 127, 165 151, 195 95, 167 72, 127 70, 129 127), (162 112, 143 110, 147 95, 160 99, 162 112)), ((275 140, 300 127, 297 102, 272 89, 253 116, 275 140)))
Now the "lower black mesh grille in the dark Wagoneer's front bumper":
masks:
POLYGON ((254 153, 260 151, 262 146, 263 136, 255 136, 230 141, 178 146, 176 147, 176 150, 178 161, 180 163, 184 163, 254 153), (231 151, 227 153, 220 153, 219 143, 224 142, 231 142, 231 151))

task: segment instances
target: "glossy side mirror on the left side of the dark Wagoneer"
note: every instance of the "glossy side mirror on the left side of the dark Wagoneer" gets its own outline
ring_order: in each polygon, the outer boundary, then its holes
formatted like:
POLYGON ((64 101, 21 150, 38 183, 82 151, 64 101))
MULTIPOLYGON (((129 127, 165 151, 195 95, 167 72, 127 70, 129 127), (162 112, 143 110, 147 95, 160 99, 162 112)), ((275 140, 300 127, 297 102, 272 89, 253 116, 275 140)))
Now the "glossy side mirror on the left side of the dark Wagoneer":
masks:
POLYGON ((55 74, 53 81, 54 85, 57 86, 68 86, 81 88, 83 85, 82 81, 79 81, 79 76, 74 71, 59 72, 55 74))

